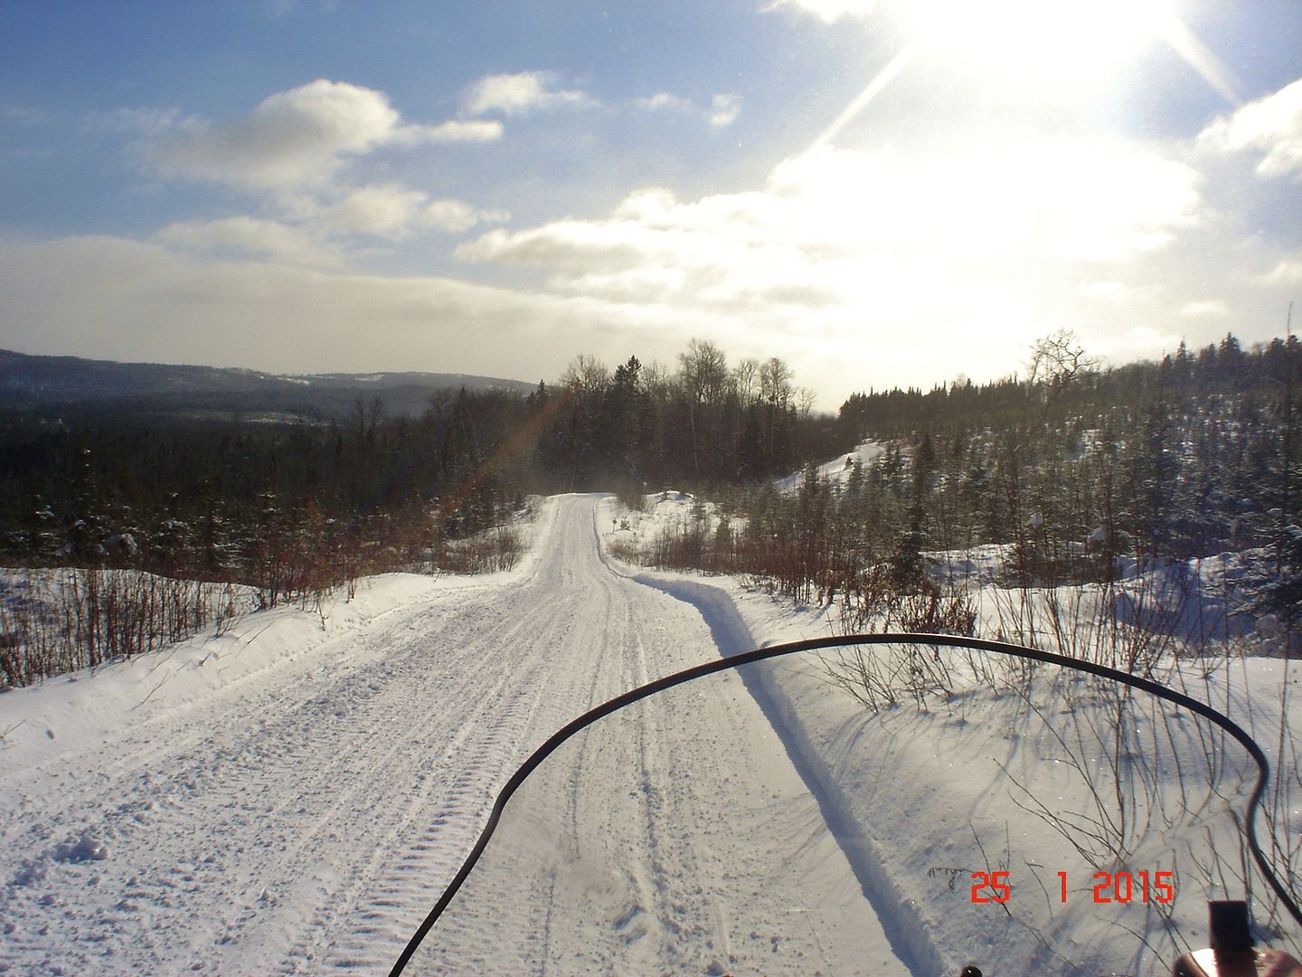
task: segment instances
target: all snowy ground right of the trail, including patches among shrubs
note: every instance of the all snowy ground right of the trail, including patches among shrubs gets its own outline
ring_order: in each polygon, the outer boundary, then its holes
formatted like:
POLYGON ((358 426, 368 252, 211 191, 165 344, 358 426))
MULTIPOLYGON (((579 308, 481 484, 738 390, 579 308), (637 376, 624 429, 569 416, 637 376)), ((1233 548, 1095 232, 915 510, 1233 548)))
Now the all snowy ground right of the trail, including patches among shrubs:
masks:
MULTIPOLYGON (((687 507, 697 504, 690 498, 650 502, 642 513, 609 503, 611 515, 599 520, 608 541, 633 550, 654 539, 663 524, 686 518, 687 507)), ((1034 630, 1040 646, 1056 650, 1056 638, 1064 637, 1068 653, 1085 651, 1088 644, 1096 658, 1122 660, 1131 650, 1161 644, 1125 627, 1100 628, 1092 616, 1098 588, 1003 590, 988 584, 991 568, 1003 560, 997 547, 949 556, 961 577, 986 584, 976 607, 988 634, 1003 620, 1034 630), (962 559, 971 565, 958 567, 962 559), (1053 608, 1075 634, 1053 634, 1053 608)), ((1134 617, 1167 620, 1197 640, 1207 634, 1208 615, 1219 614, 1220 604, 1189 601, 1185 577, 1195 581, 1194 597, 1202 598, 1200 591, 1224 586, 1215 571, 1234 565, 1232 558, 1200 561, 1181 577, 1184 588, 1167 586, 1165 576, 1178 568, 1130 568, 1118 601, 1170 604, 1169 615, 1148 607, 1134 617)), ((841 629, 836 607, 793 607, 736 578, 637 573, 699 606, 715 623, 725 654, 841 629)), ((1276 838, 1295 868, 1302 861, 1302 668, 1258 657, 1269 646, 1237 634, 1217 646, 1220 654, 1167 662, 1154 677, 1226 713, 1263 745, 1279 791, 1272 810, 1276 838)), ((889 673, 897 685, 907 684, 919 664, 904 650, 885 658, 874 672, 878 681, 889 673)), ((1237 862, 1246 853, 1236 817, 1255 775, 1245 752, 1206 722, 1142 696, 1139 711, 1128 713, 1125 735, 1117 737, 1115 688, 1107 683, 1081 685, 1055 668, 1027 681, 1009 662, 978 662, 978 675, 962 654, 943 658, 944 670, 936 671, 948 671, 953 694, 932 694, 923 709, 904 694, 901 705, 867 713, 849 696, 829 694, 829 675, 820 664, 794 659, 751 683, 788 749, 805 758, 806 782, 828 818, 838 822, 842 848, 917 972, 957 972, 965 959, 975 959, 987 973, 1164 974, 1181 948, 1206 946, 1207 900, 1245 896, 1237 862), (1107 761, 1128 753, 1142 762, 1107 761), (1101 806, 1096 792, 1105 799, 1101 806), (1016 912, 973 903, 970 871, 983 868, 1012 870, 1019 887, 1012 900, 1016 912), (1173 870, 1177 898, 1170 904, 1142 896, 1098 904, 1096 869, 1124 870, 1137 886, 1139 873, 1147 871, 1151 882, 1156 871, 1173 870), (1060 871, 1068 877, 1065 898, 1055 888, 1060 871)), ((849 659, 853 670, 857 660, 849 659)), ((833 657, 831 664, 840 662, 833 657)), ((921 664, 931 670, 935 663, 923 658, 921 664)), ((1277 911, 1271 913, 1255 873, 1251 888, 1258 924, 1271 920, 1259 938, 1297 954, 1302 934, 1286 916, 1281 921, 1277 911)))

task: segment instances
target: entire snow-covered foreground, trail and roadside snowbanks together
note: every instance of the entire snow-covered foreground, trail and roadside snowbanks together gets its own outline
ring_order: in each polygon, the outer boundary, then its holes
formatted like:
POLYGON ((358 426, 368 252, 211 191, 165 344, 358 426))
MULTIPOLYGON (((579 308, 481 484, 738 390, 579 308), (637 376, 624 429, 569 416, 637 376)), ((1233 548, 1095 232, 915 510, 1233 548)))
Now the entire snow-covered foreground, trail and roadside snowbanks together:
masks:
MULTIPOLYGON (((648 679, 829 632, 825 612, 734 580, 621 564, 602 546, 628 534, 620 520, 611 499, 562 496, 510 572, 378 577, 323 615, 251 615, 220 638, 0 696, 0 972, 383 972, 552 731, 648 679)), ((526 786, 418 963, 1160 973, 1157 907, 1105 920, 1053 818, 1009 804, 1010 784, 1038 776, 1052 810, 1082 808, 1072 761, 1099 750, 1031 733, 1026 698, 1010 685, 979 700, 962 668, 960 694, 926 711, 874 718, 796 662, 603 720, 526 786), (970 871, 986 869, 1013 873, 1012 912, 973 903, 970 871), (1068 903, 1052 898, 1060 870, 1068 903)), ((1193 690, 1276 753, 1290 749, 1281 702, 1289 727, 1302 720, 1298 677, 1241 659, 1193 690)), ((1107 715, 1036 681, 1038 709, 1072 728, 1107 715)), ((1219 748, 1160 728, 1187 778, 1147 797, 1161 830, 1135 871, 1169 868, 1177 844, 1237 851, 1225 802, 1194 802, 1219 748)), ((1187 865, 1177 914, 1197 938, 1206 886, 1187 865)))

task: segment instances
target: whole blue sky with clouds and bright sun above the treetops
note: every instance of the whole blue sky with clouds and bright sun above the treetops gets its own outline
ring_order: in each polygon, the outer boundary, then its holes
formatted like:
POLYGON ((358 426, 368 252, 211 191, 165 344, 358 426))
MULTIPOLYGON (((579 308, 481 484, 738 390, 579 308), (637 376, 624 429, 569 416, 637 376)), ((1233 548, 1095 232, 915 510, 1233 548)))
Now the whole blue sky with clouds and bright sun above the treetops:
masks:
POLYGON ((0 1, 25 353, 551 382, 704 339, 836 410, 1299 297, 1297 0, 0 1))

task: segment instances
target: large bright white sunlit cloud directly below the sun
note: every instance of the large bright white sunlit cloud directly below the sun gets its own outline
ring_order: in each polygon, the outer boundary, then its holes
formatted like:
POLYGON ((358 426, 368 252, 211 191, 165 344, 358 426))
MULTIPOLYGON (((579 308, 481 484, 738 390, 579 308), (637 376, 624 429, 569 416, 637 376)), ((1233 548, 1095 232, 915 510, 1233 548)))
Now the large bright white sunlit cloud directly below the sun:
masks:
MULTIPOLYGON (((944 155, 824 146, 756 190, 681 199, 646 188, 603 218, 493 229, 456 255, 540 270, 557 294, 798 339, 809 347, 798 360, 827 353, 827 376, 849 369, 833 349, 878 376, 889 365, 889 382, 905 382, 901 370, 921 380, 922 363, 931 380, 937 369, 999 375, 1009 349, 1059 326, 1152 352, 1163 317, 1212 280, 1181 292, 1168 257, 1186 237, 1213 236, 1199 173, 1115 139, 1004 135, 944 155), (1150 317, 1154 331, 1135 331, 1150 317)), ((1215 248, 1195 250, 1224 263, 1215 248)), ((1238 298, 1224 301, 1238 313, 1238 298)))

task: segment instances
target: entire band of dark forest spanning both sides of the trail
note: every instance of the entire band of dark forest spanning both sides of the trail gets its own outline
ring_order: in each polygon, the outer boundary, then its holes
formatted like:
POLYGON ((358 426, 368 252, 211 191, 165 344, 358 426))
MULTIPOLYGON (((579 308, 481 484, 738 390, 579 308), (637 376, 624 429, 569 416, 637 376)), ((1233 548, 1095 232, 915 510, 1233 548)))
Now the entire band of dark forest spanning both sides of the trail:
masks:
POLYGON ((230 611, 232 588, 255 607, 319 606, 372 573, 506 568, 529 499, 562 491, 615 491, 630 508, 667 487, 711 499, 713 518, 698 507, 629 556, 841 601, 861 623, 885 607, 917 629, 970 630, 967 598, 928 563, 980 546, 1006 548, 997 582, 1022 589, 1253 551, 1250 610, 1290 629, 1302 617, 1292 335, 1250 350, 1228 335, 1103 367, 1055 333, 1022 378, 870 389, 835 417, 794 379, 781 360, 729 363, 694 340, 673 370, 579 356, 559 383, 444 391, 419 414, 363 393, 333 419, 7 408, 0 550, 20 569, 5 584, 0 680, 74 667, 87 642, 81 663, 94 664, 193 630, 230 611), (870 464, 818 477, 818 462, 865 440, 878 448, 870 464), (797 488, 777 487, 802 468, 797 488), (77 568, 76 595, 65 586, 59 610, 47 595, 25 614, 14 588, 39 573, 20 580, 21 568, 77 568), (163 582, 129 597, 124 581, 138 577, 121 572, 163 582), (57 651, 27 653, 46 660, 38 668, 16 649, 36 640, 42 615, 62 637, 57 651))

